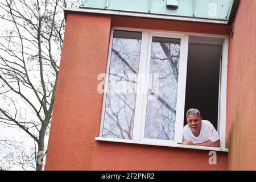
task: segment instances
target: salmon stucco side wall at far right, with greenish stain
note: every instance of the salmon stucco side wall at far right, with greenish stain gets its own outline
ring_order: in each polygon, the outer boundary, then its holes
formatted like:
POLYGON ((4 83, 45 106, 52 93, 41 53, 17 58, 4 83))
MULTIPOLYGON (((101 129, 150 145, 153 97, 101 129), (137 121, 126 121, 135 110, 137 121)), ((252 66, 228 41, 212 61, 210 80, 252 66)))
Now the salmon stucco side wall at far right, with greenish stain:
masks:
POLYGON ((256 1, 242 0, 229 42, 229 169, 256 170, 256 1))

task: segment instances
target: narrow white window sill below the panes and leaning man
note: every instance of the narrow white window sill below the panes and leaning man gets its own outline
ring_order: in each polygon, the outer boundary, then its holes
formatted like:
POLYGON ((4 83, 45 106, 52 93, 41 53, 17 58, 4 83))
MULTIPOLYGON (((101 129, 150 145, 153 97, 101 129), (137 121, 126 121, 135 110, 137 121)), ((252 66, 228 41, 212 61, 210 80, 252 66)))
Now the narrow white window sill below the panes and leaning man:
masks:
POLYGON ((154 139, 126 140, 126 139, 102 138, 102 137, 96 137, 95 140, 106 141, 106 142, 147 144, 147 145, 152 145, 152 146, 190 148, 190 149, 197 149, 197 150, 209 150, 209 151, 221 151, 221 152, 228 152, 229 151, 228 148, 205 147, 205 146, 188 146, 188 145, 185 145, 185 144, 177 144, 174 141, 167 141, 167 140, 154 140, 154 139))

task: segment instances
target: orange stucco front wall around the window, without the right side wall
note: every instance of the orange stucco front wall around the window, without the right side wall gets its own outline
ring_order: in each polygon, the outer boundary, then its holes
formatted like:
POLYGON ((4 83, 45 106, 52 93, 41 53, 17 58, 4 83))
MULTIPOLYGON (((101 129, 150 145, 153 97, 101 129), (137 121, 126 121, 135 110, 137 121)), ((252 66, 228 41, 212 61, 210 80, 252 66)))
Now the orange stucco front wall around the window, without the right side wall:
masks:
POLYGON ((224 35, 229 30, 205 23, 68 13, 45 169, 228 169, 226 152, 217 152, 217 165, 209 165, 209 151, 94 140, 103 97, 97 76, 106 71, 111 26, 224 35))

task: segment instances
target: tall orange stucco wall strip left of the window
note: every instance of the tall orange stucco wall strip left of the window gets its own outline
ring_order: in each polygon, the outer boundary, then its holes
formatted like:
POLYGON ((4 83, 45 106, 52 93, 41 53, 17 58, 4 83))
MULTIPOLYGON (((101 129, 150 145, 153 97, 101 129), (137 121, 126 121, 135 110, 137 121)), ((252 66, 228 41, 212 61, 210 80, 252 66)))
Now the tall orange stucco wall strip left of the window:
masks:
POLYGON ((46 170, 92 169, 102 102, 97 76, 105 72, 110 21, 67 16, 46 170))

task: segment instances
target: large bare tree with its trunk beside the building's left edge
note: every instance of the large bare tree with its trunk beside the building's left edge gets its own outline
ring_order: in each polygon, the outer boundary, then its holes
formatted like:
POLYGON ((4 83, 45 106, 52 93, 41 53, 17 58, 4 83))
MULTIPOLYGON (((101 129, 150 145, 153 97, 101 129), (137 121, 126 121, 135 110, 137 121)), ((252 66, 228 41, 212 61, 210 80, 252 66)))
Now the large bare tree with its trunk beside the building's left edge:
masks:
POLYGON ((0 2, 0 122, 34 139, 36 170, 43 169, 55 99, 65 28, 63 7, 79 6, 79 2, 0 2))

